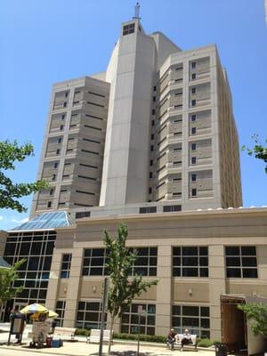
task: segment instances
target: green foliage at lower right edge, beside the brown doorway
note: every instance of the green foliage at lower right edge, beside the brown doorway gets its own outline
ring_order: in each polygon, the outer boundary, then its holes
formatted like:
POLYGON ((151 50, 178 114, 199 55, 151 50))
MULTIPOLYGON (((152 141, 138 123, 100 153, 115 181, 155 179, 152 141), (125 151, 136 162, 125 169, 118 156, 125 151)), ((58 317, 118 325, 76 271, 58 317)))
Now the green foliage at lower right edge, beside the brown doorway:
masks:
POLYGON ((267 303, 239 304, 238 308, 246 313, 254 335, 267 338, 267 303))

